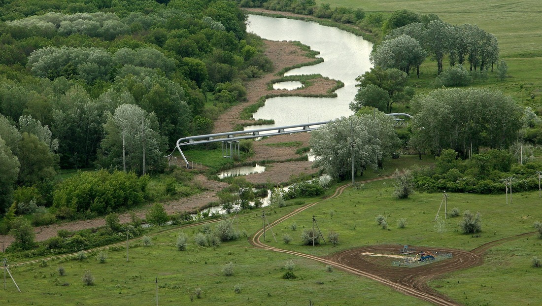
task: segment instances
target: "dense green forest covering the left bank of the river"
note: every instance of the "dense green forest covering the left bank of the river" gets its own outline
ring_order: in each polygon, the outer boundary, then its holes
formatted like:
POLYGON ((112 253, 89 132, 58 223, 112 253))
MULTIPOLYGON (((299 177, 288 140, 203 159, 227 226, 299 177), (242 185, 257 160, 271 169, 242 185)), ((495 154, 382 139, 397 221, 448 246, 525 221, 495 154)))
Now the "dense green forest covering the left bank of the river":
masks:
POLYGON ((273 69, 226 0, 21 0, 0 20, 0 213, 21 188, 52 205, 59 167, 162 172, 273 69))

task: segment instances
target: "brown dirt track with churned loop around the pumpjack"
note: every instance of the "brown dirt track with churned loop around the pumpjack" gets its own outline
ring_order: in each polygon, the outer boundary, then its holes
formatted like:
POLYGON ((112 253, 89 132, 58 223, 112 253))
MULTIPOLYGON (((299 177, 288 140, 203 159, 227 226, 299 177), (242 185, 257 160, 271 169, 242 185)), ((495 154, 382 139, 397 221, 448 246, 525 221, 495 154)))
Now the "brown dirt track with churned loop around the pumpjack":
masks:
MULTIPOLYGON (((381 180, 386 178, 378 178, 369 181, 381 180)), ((340 196, 341 193, 349 185, 340 186, 337 188, 333 196, 328 199, 335 198, 340 196)), ((317 205, 320 201, 308 204, 306 206, 300 207, 299 209, 287 214, 286 216, 276 220, 271 226, 275 226, 289 217, 294 216, 301 211, 308 209, 314 205, 317 205)), ((446 248, 418 248, 425 251, 435 251, 435 252, 446 252, 451 253, 452 258, 446 259, 443 261, 438 261, 422 266, 417 266, 416 268, 405 268, 392 266, 390 264, 390 258, 384 257, 373 257, 365 256, 362 253, 371 252, 378 254, 389 254, 397 255, 401 246, 399 245, 373 245, 365 246, 363 248, 357 248, 352 250, 346 250, 339 253, 335 253, 330 257, 317 257, 312 255, 307 255, 304 253, 282 250, 274 248, 272 246, 266 245, 260 242, 260 237, 262 236, 263 230, 256 232, 254 236, 250 238, 250 243, 256 246, 257 248, 262 248, 266 250, 271 250, 275 252, 288 253, 295 256, 300 256, 304 258, 313 259, 315 261, 329 264, 335 268, 350 272, 355 275, 364 276, 370 279, 373 279, 377 282, 388 285, 389 287, 402 292, 403 294, 421 298, 424 301, 428 301, 435 305, 442 306, 458 306, 462 305, 461 303, 452 301, 449 297, 442 295, 435 290, 431 289, 427 282, 429 279, 437 277, 438 275, 445 274, 447 272, 456 271, 459 269, 466 269, 472 266, 482 264, 482 253, 488 250, 489 248, 505 243, 509 240, 518 239, 527 235, 533 235, 533 233, 525 233, 518 236, 507 237, 504 239, 496 240, 494 242, 487 243, 480 246, 479 248, 474 249, 472 252, 462 251, 462 250, 453 250, 446 248), (383 259, 384 258, 384 259, 383 259)))

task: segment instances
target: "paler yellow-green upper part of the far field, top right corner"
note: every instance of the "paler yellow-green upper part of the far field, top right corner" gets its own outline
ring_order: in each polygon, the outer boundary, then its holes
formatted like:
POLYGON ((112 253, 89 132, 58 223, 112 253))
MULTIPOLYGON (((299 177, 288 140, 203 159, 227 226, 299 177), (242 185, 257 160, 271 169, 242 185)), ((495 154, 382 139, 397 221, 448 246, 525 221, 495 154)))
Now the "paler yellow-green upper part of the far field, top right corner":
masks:
MULTIPOLYGON (((318 4, 330 3, 318 0, 318 4)), ((451 24, 472 23, 499 40, 501 56, 538 57, 542 55, 542 24, 539 22, 542 2, 524 1, 441 1, 441 0, 334 0, 334 6, 362 8, 367 14, 408 9, 420 14, 437 14, 451 24)))

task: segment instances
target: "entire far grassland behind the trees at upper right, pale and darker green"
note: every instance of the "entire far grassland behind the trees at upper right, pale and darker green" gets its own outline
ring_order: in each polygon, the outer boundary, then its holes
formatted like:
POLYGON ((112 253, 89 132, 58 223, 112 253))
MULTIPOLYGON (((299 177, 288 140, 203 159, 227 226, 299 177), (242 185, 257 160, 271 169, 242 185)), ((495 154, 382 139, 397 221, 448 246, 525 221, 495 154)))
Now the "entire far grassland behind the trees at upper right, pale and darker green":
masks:
MULTIPOLYGON (((329 3, 318 0, 318 4, 329 3)), ((336 0, 332 5, 363 8, 366 14, 391 12, 408 9, 420 14, 437 14, 443 21, 451 24, 477 24, 481 29, 494 34, 499 41, 500 58, 508 63, 508 78, 497 81, 490 74, 485 83, 474 86, 493 87, 512 95, 526 106, 540 108, 542 79, 542 23, 539 22, 542 2, 526 0, 510 2, 493 1, 440 1, 440 0, 336 0), (531 94, 535 98, 531 99, 531 94)), ((446 60, 445 60, 446 61, 446 60)), ((444 63, 444 69, 447 63, 444 63)), ((412 79, 423 87, 430 84, 436 76, 436 63, 427 62, 422 67, 422 80, 412 79)), ((424 90, 417 89, 423 93, 424 90)))

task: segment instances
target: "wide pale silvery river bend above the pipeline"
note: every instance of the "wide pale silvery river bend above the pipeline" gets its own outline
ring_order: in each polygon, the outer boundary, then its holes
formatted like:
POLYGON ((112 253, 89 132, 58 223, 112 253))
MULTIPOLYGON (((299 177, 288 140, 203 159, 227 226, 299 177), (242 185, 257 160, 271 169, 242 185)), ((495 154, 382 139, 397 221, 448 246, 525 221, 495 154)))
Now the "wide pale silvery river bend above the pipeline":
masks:
POLYGON ((273 119, 274 125, 249 126, 246 129, 294 125, 327 121, 350 116, 348 105, 356 96, 356 77, 368 71, 372 64, 369 54, 372 43, 349 32, 288 18, 248 15, 247 31, 273 41, 300 41, 320 52, 324 62, 288 71, 285 75, 321 74, 340 80, 345 87, 336 91, 335 98, 274 97, 254 113, 255 119, 273 119))

